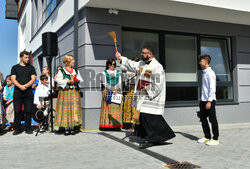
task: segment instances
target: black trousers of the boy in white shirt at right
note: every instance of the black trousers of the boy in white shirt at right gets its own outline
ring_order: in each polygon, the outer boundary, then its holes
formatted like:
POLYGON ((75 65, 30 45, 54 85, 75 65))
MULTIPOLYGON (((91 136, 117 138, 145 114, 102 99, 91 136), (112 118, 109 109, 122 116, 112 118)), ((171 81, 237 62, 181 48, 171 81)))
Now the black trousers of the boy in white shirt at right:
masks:
POLYGON ((210 127, 208 124, 208 119, 212 124, 212 132, 213 132, 213 139, 218 140, 219 138, 219 126, 216 118, 216 111, 215 111, 215 101, 211 102, 211 108, 206 109, 207 102, 200 102, 200 119, 202 124, 202 129, 204 135, 207 139, 211 139, 210 127), (208 119, 207 119, 208 118, 208 119))

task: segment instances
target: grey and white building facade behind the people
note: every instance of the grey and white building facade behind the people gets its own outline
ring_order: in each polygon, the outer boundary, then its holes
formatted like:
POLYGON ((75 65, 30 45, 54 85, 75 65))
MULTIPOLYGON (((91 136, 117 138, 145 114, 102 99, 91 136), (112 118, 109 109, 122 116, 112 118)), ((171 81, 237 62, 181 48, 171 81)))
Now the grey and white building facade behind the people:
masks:
POLYGON ((250 2, 229 1, 23 0, 18 4, 18 52, 32 51, 40 74, 48 64, 42 33, 57 33, 59 54, 53 69, 62 65, 65 54, 76 57, 84 78, 86 130, 98 129, 100 73, 106 60, 115 57, 110 31, 116 32, 119 51, 129 58, 140 56, 145 44, 155 48, 166 71, 164 117, 170 125, 199 124, 202 72, 197 56, 204 53, 211 55, 217 76, 219 123, 250 122, 250 2))

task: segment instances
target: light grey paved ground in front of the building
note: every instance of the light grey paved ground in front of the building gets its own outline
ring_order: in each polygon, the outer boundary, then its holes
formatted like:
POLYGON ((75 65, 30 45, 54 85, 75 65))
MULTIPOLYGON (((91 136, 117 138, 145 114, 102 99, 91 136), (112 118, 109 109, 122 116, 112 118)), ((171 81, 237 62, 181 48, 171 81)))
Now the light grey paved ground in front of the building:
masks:
POLYGON ((250 123, 219 125, 220 144, 197 143, 201 126, 175 126, 164 145, 138 149, 142 140, 130 131, 84 131, 64 136, 11 132, 0 136, 0 169, 166 169, 189 162, 202 169, 250 168, 250 123))

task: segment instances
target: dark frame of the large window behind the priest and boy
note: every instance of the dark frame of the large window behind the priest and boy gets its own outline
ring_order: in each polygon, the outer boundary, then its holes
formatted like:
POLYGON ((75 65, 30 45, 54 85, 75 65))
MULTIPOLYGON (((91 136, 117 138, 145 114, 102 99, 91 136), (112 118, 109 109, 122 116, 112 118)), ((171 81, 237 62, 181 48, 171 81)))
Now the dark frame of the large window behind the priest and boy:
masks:
MULTIPOLYGON (((165 68, 165 35, 183 35, 183 36, 195 36, 196 37, 196 49, 197 56, 201 54, 201 39, 202 38, 211 38, 211 39, 224 39, 226 40, 227 45, 227 59, 229 64, 229 73, 231 76, 231 82, 216 82, 216 86, 230 86, 232 87, 232 99, 220 99, 217 100, 217 105, 235 105, 238 102, 235 101, 234 98, 234 79, 233 79, 233 63, 232 63, 232 37, 229 36, 220 36, 220 35, 208 35, 208 34, 196 34, 196 33, 188 33, 188 32, 175 32, 175 31, 162 31, 162 30, 151 30, 151 29, 141 29, 141 28, 131 28, 131 27, 122 27, 121 31, 133 31, 133 32, 148 32, 148 33, 158 33, 158 51, 159 51, 159 62, 165 68)), ((201 98, 201 78, 202 71, 199 66, 199 60, 197 57, 197 82, 166 82, 167 86, 180 86, 180 87, 194 87, 197 86, 198 90, 198 100, 189 100, 189 101, 166 101, 165 107, 189 107, 189 106, 197 106, 200 98, 201 98), (187 86, 188 85, 188 86, 187 86)))

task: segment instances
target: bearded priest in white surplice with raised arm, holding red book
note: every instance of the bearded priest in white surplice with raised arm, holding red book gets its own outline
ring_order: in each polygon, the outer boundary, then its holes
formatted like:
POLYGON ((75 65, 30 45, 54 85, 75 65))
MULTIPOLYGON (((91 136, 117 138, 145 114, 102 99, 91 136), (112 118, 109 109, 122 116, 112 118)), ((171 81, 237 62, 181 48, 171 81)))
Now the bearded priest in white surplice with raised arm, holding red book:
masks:
POLYGON ((134 62, 116 53, 121 67, 137 72, 135 84, 136 109, 140 111, 140 136, 145 142, 139 148, 147 148, 175 137, 162 115, 165 109, 166 81, 162 65, 155 59, 154 49, 144 46, 141 61, 134 62))

